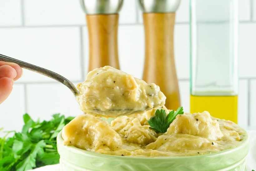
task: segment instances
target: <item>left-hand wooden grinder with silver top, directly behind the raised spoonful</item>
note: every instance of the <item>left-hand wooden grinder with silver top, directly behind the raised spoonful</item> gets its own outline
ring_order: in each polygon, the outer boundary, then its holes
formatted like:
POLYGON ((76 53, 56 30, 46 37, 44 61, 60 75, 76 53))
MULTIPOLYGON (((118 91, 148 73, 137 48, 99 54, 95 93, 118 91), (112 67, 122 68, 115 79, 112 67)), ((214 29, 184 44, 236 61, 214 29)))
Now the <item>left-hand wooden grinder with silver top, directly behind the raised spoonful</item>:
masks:
POLYGON ((88 71, 110 65, 120 69, 117 31, 123 0, 81 0, 89 35, 88 71))

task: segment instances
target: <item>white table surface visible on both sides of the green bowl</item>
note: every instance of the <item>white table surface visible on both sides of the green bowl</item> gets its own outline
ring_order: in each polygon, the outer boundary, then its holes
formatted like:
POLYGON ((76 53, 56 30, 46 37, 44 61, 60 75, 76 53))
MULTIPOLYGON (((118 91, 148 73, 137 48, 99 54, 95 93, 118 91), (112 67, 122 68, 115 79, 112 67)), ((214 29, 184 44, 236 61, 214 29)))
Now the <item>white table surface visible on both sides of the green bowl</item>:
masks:
MULTIPOLYGON (((250 136, 250 150, 247 156, 248 171, 256 170, 256 131, 248 131, 250 136)), ((59 164, 44 166, 33 171, 60 171, 59 164)))

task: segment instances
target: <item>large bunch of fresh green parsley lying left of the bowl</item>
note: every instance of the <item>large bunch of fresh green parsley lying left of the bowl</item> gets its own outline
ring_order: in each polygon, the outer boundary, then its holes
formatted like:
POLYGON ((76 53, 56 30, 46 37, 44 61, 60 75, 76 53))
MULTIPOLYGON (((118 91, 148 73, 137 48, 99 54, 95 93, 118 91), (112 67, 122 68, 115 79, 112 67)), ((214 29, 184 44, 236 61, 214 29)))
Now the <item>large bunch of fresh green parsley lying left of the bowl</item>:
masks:
MULTIPOLYGON (((58 164, 56 137, 74 117, 54 114, 50 121, 33 121, 23 115, 22 132, 0 138, 0 170, 25 171, 49 164, 58 164)), ((11 132, 8 132, 11 133, 11 132)), ((7 133, 7 134, 8 134, 7 133)))

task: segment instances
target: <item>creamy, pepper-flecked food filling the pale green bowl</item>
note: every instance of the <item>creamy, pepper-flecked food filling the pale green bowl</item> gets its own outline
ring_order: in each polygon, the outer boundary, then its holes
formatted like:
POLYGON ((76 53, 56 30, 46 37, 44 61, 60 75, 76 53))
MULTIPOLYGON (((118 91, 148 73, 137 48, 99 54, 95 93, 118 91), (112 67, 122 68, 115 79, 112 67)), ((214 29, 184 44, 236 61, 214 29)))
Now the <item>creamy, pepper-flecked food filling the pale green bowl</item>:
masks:
MULTIPOLYGON (((120 116, 111 124, 80 115, 63 128, 64 144, 109 155, 190 156, 235 148, 247 137, 235 123, 212 118, 208 112, 178 115, 167 132, 156 133, 147 122, 156 109, 120 116)), ((169 112, 164 106, 158 109, 169 112)))

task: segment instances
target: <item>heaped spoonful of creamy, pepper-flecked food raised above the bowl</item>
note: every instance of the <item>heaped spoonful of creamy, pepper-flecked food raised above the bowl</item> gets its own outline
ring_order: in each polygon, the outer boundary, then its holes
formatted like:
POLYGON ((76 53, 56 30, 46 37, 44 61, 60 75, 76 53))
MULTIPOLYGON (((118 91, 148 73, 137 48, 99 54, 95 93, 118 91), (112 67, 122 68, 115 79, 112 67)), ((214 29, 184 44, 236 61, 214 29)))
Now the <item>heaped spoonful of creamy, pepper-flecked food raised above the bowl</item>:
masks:
POLYGON ((165 104, 159 86, 110 66, 89 72, 77 86, 77 101, 85 113, 118 116, 149 110, 165 104))

